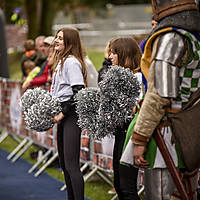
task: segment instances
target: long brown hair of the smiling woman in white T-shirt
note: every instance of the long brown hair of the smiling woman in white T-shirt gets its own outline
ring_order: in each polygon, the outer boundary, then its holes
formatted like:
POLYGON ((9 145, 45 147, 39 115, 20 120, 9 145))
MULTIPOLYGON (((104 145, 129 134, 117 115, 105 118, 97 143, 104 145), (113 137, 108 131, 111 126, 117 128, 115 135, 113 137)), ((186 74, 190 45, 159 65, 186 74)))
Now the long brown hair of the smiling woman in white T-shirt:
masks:
POLYGON ((84 78, 84 82, 87 86, 87 71, 84 62, 84 51, 80 38, 80 34, 75 28, 62 28, 57 31, 57 34, 62 31, 63 32, 63 41, 64 41, 64 50, 62 52, 57 52, 56 60, 61 60, 61 71, 64 65, 65 60, 69 55, 73 55, 82 65, 82 74, 84 78))

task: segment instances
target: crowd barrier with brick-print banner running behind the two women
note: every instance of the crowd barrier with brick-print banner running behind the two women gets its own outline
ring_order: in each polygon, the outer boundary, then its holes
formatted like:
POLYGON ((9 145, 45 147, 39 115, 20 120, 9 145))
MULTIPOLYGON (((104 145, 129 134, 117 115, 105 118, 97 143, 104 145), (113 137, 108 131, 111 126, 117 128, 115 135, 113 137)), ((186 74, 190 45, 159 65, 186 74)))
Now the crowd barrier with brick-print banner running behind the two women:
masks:
MULTIPOLYGON (((21 82, 12 81, 6 78, 0 78, 0 143, 7 138, 21 138, 19 145, 8 155, 7 159, 15 162, 24 154, 27 149, 35 144, 47 149, 44 155, 29 169, 28 173, 32 173, 43 161, 46 162, 34 174, 39 176, 57 157, 56 143, 56 125, 44 132, 37 132, 27 129, 23 114, 19 105, 22 95, 21 82), (51 155, 51 157, 49 157, 51 155)), ((112 175, 112 151, 114 138, 106 137, 101 141, 93 140, 88 137, 85 131, 81 134, 81 150, 80 162, 82 164, 81 171, 89 169, 84 175, 84 181, 87 181, 94 174, 98 175, 109 185, 113 186, 112 175)), ((143 173, 139 173, 139 182, 143 181, 143 173)), ((64 190, 64 185, 61 190, 64 190)), ((114 197, 115 198, 115 197, 114 197)))

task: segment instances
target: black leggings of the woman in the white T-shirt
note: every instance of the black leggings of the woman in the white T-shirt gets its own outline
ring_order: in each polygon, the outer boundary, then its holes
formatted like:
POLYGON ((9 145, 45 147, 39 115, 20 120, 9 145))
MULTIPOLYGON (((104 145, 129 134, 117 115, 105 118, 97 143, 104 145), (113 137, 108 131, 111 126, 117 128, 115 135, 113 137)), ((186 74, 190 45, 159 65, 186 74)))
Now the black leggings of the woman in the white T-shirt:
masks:
POLYGON ((84 200, 84 180, 80 171, 81 129, 77 126, 75 109, 70 110, 57 130, 60 166, 64 172, 68 200, 84 200))

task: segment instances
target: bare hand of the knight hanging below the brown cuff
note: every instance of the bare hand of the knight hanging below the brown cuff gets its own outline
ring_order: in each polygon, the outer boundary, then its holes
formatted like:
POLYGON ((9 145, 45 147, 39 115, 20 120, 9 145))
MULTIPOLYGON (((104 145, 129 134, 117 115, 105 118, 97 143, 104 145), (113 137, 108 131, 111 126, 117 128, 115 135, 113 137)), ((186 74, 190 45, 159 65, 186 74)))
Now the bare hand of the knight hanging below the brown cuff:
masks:
POLYGON ((133 149, 133 159, 134 164, 141 168, 147 168, 149 163, 144 159, 144 153, 146 151, 146 146, 134 145, 133 149))

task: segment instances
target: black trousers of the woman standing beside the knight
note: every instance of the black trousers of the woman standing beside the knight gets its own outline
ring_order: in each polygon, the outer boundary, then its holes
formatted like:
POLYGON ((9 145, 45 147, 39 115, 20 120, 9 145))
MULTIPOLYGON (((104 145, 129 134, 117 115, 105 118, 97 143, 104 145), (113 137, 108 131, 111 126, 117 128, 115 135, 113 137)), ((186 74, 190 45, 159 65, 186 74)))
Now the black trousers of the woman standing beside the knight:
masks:
POLYGON ((115 135, 113 150, 114 187, 119 200, 139 200, 137 194, 138 168, 120 164, 125 138, 126 134, 123 132, 115 135))

